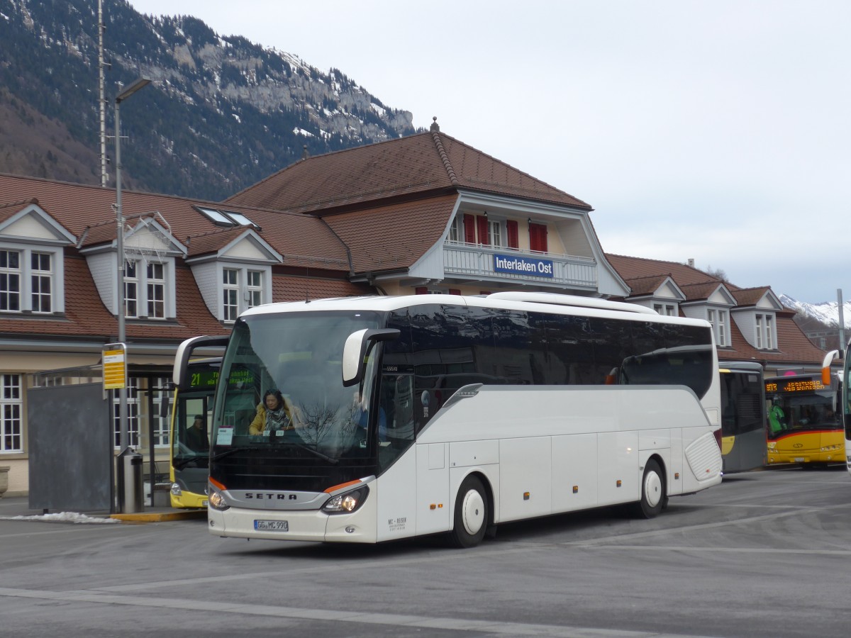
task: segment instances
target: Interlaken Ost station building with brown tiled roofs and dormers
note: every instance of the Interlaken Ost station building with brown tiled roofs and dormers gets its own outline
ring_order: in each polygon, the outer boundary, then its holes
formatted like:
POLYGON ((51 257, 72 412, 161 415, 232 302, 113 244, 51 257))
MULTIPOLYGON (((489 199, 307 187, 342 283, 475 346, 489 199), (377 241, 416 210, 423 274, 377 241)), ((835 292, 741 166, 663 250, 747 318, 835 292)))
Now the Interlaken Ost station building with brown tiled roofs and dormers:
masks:
MULTIPOLYGON (((722 357, 778 369, 820 362, 770 288, 607 255, 589 204, 437 123, 305 157, 224 202, 122 196, 129 430, 151 472, 168 470, 177 345, 227 334, 240 312, 271 302, 516 289, 626 299, 709 319, 722 357)), ((9 493, 27 492, 27 390, 99 379, 103 347, 117 341, 115 203, 112 189, 0 175, 0 470, 9 493)), ((56 421, 60 429, 61 414, 56 421)))

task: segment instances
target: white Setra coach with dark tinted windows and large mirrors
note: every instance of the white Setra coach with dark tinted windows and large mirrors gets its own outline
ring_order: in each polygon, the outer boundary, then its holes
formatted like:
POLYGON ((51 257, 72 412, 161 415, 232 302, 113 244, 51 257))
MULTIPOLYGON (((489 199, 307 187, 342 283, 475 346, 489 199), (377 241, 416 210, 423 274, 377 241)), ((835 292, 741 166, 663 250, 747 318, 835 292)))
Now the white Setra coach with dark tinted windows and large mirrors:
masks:
MULTIPOLYGON (((192 350, 180 345, 177 385, 192 350)), ((237 319, 209 532, 377 543, 721 482, 710 324, 551 293, 318 299, 237 319), (284 407, 282 410, 281 407, 284 407)))

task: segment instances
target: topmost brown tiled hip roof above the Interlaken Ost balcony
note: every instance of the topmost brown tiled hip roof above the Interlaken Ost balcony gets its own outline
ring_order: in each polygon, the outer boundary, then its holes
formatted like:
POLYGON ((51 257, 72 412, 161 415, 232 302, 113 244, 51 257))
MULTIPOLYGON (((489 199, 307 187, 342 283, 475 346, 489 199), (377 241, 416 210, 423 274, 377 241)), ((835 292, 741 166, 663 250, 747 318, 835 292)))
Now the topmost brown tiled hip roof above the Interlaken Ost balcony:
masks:
POLYGON ((226 202, 311 212, 461 189, 591 210, 576 197, 436 132, 310 157, 226 202))

